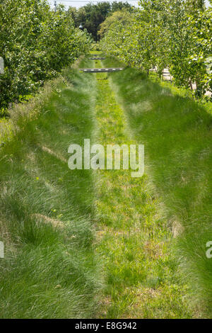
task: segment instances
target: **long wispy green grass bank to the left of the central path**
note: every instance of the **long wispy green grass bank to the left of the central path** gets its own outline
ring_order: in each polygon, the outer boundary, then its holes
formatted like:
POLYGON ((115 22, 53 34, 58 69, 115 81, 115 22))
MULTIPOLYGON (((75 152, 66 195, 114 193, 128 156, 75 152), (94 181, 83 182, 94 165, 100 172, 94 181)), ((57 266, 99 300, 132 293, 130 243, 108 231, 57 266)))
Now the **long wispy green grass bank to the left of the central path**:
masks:
POLYGON ((66 69, 35 110, 14 116, 19 130, 0 150, 1 318, 95 315, 93 176, 67 164, 69 145, 92 138, 94 92, 94 77, 66 69))

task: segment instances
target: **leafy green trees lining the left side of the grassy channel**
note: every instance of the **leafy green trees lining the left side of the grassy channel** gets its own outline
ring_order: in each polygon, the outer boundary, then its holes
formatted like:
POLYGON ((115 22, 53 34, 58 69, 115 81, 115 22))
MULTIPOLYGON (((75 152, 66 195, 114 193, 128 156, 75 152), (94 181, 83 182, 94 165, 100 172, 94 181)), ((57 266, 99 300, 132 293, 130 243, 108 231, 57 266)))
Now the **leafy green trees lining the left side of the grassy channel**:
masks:
POLYGON ((89 49, 90 36, 63 6, 54 12, 46 0, 0 0, 0 114, 89 49))

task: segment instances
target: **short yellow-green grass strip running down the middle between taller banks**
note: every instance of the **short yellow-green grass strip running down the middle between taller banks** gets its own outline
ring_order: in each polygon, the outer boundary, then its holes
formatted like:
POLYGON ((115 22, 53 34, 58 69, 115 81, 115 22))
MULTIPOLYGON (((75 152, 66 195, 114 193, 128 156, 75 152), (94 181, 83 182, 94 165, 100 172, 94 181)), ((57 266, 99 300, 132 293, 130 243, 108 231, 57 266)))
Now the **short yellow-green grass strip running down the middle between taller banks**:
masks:
MULTIPOLYGON (((107 74, 96 74, 96 79, 98 142, 133 143, 107 74)), ((97 183, 97 251, 105 263, 106 283, 99 316, 191 317, 184 300, 187 287, 180 283, 170 247, 172 234, 158 215, 148 177, 134 179, 130 171, 101 170, 97 183)))

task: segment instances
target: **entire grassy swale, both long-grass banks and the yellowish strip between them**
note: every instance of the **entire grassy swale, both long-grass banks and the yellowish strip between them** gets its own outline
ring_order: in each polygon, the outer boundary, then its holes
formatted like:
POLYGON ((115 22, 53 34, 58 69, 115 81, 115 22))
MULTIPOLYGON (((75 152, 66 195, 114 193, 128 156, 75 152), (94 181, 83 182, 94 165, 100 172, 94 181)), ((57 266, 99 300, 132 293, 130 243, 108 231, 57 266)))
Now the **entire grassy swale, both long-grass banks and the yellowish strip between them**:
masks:
POLYGON ((2 120, 0 317, 211 317, 210 112, 136 69, 69 68, 2 120), (144 175, 71 171, 86 138, 144 144, 144 175))

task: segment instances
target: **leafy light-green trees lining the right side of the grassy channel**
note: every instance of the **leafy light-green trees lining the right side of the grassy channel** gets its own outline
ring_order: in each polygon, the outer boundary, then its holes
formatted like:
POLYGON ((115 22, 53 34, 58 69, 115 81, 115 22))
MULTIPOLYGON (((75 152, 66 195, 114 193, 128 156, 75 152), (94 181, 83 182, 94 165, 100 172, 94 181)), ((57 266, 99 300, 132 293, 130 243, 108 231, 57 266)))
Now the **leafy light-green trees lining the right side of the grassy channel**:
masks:
POLYGON ((101 26, 102 48, 148 74, 168 67, 178 86, 197 97, 212 91, 212 11, 203 0, 141 0, 101 26))

